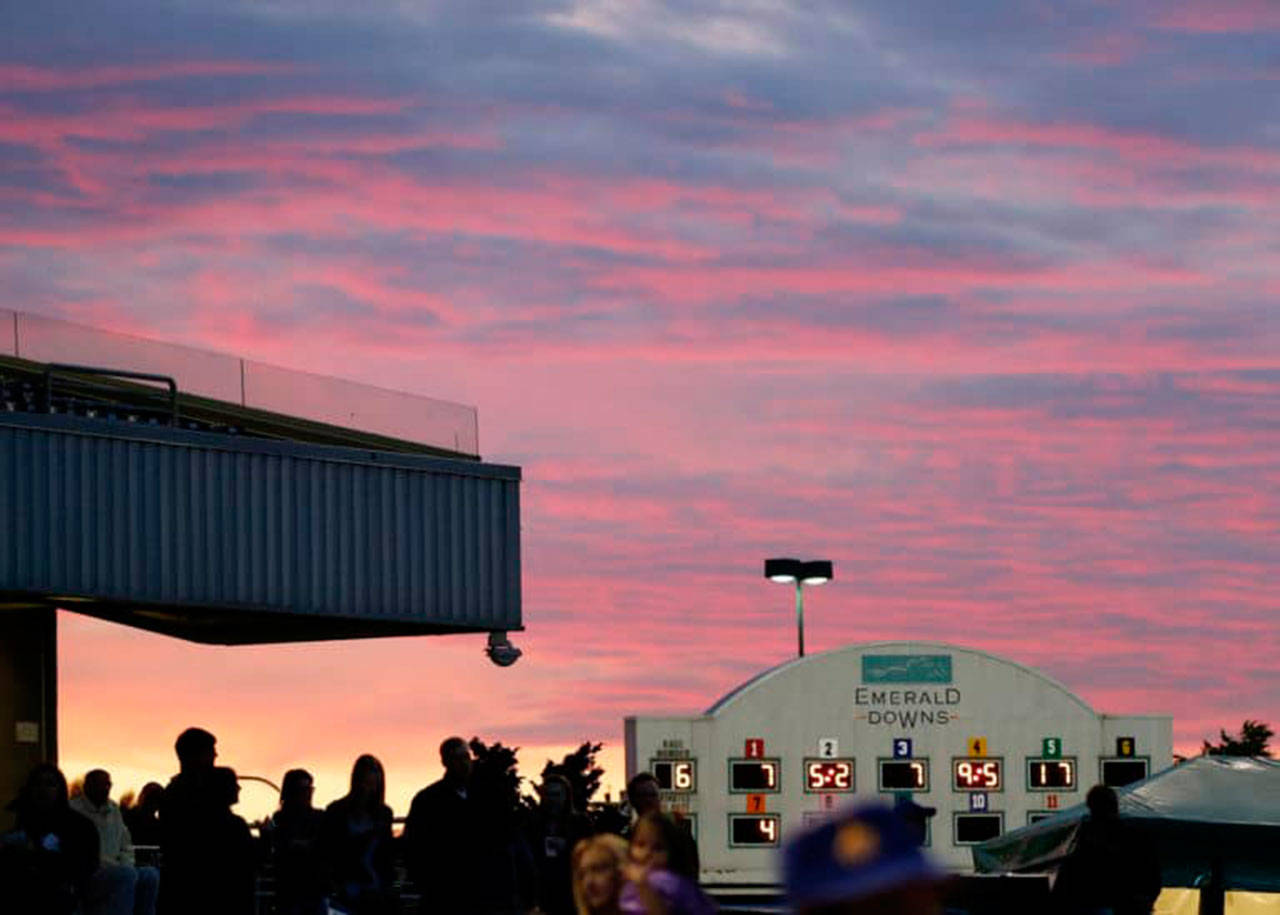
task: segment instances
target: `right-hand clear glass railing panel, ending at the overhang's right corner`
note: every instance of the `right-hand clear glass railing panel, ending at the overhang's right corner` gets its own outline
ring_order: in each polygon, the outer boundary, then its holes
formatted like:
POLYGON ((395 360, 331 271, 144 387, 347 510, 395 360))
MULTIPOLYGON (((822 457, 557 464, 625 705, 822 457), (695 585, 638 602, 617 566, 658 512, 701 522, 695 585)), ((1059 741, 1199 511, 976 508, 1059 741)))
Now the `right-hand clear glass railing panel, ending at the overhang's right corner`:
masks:
POLYGON ((244 360, 244 404, 479 456, 475 407, 244 360))

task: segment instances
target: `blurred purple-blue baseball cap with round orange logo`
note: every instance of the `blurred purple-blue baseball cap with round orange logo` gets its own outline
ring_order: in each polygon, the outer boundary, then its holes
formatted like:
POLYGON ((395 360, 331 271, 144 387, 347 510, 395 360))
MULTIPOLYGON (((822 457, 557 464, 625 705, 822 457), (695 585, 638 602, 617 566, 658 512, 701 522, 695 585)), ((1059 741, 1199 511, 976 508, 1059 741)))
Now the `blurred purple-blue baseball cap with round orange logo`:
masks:
POLYGON ((846 808, 782 851, 782 883, 795 907, 854 901, 942 878, 883 804, 846 808))

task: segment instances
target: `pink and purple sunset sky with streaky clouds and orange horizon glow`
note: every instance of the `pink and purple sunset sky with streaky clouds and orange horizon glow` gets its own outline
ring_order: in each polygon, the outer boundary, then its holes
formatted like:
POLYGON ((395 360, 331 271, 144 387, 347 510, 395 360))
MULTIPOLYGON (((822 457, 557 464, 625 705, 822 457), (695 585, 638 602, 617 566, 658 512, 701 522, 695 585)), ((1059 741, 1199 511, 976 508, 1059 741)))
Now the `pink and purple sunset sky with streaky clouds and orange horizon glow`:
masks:
MULTIPOLYGON (((0 307, 475 404, 525 658, 60 614, 61 759, 402 813, 794 650, 987 650, 1198 751, 1280 719, 1272 0, 0 5, 0 307), (265 791, 265 790, 264 790, 265 791)), ((269 806, 246 792, 246 809, 269 806)))

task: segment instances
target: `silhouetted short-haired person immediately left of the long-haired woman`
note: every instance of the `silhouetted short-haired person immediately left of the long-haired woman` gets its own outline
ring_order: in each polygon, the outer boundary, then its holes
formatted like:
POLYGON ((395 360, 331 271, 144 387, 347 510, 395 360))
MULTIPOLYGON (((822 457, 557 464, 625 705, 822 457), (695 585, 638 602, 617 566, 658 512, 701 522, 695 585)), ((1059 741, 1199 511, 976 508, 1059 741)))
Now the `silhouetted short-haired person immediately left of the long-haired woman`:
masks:
POLYGON ((326 915, 326 884, 320 859, 324 811, 311 806, 315 781, 306 769, 289 769, 280 784, 280 809, 265 836, 275 865, 276 915, 326 915))

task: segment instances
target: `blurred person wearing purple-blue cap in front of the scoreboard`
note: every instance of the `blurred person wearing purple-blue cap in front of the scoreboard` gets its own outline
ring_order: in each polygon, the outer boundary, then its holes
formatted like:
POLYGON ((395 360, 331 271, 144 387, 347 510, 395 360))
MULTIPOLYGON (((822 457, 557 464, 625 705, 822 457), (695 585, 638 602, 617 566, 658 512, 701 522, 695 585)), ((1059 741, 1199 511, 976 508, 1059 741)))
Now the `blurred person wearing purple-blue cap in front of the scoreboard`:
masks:
POLYGON ((943 879, 883 804, 846 808, 782 851, 783 889, 797 915, 937 915, 943 879))

